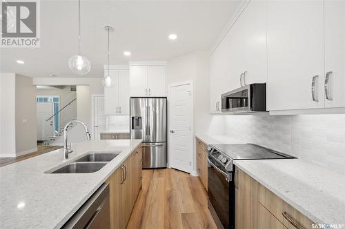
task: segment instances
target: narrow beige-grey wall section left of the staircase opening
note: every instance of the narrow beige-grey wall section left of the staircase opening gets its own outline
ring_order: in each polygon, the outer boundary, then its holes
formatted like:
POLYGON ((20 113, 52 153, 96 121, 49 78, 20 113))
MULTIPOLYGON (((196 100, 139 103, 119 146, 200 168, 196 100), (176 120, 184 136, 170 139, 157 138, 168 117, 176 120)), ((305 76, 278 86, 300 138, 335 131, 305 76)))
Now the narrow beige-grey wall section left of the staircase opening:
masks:
POLYGON ((32 78, 16 74, 15 135, 16 155, 37 151, 36 87, 32 78))

